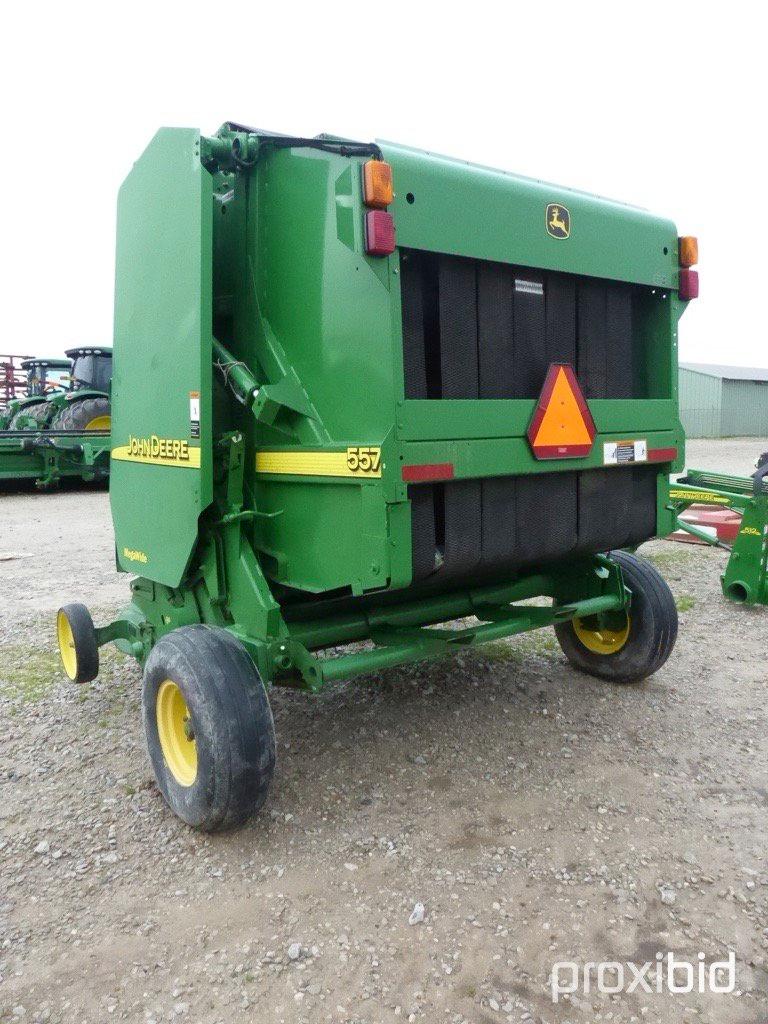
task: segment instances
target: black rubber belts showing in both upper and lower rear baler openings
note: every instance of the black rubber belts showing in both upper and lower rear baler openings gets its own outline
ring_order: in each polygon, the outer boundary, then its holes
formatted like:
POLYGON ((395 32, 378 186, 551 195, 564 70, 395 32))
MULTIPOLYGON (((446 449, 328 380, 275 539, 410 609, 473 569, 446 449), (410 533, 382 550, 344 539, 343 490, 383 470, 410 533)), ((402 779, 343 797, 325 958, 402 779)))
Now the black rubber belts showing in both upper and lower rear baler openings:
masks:
MULTIPOLYGON (((537 398, 568 362, 587 398, 634 393, 633 288, 401 252, 407 398, 537 398)), ((409 488, 414 580, 487 578, 655 531, 656 470, 622 467, 409 488)))

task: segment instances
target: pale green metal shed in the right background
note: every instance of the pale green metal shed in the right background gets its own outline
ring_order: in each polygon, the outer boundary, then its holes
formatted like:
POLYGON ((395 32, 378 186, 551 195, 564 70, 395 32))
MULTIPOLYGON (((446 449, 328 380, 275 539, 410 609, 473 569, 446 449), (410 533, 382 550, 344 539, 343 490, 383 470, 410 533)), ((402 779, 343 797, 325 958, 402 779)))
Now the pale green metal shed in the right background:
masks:
POLYGON ((688 437, 768 436, 768 370, 681 362, 680 417, 688 437))

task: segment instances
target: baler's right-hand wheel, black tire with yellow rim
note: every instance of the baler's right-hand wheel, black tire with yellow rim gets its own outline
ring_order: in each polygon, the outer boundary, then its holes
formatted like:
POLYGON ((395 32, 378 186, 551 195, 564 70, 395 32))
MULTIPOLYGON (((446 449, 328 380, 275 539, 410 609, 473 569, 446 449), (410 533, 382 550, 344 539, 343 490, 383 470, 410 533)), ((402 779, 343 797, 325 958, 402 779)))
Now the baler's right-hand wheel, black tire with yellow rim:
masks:
POLYGON ((558 623, 563 653, 580 672, 612 683, 639 683, 652 676, 677 640, 677 606, 666 581, 650 562, 624 551, 610 557, 632 594, 629 611, 558 623))

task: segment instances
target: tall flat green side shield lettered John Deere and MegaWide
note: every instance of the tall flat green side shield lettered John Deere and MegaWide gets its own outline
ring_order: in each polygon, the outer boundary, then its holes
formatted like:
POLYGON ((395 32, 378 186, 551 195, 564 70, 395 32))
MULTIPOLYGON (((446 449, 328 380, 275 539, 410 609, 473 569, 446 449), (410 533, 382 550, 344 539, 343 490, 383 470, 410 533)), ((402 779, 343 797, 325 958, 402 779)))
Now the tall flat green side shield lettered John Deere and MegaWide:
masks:
POLYGON ((199 133, 172 128, 155 136, 118 201, 117 557, 121 568, 168 586, 180 583, 212 499, 211 197, 199 133), (190 392, 200 398, 199 430, 190 392), (146 461, 135 461, 142 453, 146 461))

